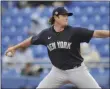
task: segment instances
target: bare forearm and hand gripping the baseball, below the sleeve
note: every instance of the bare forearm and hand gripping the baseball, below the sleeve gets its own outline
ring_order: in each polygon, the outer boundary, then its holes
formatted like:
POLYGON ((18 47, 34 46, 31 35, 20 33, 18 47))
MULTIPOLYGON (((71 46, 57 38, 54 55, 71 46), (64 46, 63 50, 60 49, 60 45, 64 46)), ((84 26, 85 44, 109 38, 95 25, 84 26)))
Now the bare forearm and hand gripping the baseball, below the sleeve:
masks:
POLYGON ((29 37, 28 39, 24 40, 23 42, 15 45, 15 46, 12 46, 12 47, 9 47, 7 50, 6 50, 6 55, 8 52, 11 52, 12 55, 14 55, 15 51, 19 48, 27 48, 31 45, 31 39, 32 37, 29 37))

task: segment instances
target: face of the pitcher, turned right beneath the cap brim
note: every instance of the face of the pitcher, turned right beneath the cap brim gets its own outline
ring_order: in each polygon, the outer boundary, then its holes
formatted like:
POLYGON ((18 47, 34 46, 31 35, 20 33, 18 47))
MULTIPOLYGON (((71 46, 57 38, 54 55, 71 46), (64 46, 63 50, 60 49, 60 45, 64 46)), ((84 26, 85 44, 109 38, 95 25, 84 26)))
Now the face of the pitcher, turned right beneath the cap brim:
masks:
POLYGON ((68 15, 59 15, 58 17, 56 17, 55 21, 61 26, 66 26, 68 25, 68 15))

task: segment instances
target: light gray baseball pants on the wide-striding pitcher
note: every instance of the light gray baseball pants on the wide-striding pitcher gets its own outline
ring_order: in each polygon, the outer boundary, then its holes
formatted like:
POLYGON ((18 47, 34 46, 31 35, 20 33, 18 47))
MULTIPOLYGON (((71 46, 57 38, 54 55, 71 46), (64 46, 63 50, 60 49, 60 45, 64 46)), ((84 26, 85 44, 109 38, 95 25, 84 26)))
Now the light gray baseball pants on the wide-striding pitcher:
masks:
POLYGON ((84 63, 82 63, 81 66, 78 68, 69 70, 61 70, 53 66, 50 73, 40 82, 36 89, 40 88, 58 89, 60 88, 60 86, 66 83, 72 83, 79 89, 80 88, 101 89, 101 87, 99 87, 98 83, 89 73, 84 63))

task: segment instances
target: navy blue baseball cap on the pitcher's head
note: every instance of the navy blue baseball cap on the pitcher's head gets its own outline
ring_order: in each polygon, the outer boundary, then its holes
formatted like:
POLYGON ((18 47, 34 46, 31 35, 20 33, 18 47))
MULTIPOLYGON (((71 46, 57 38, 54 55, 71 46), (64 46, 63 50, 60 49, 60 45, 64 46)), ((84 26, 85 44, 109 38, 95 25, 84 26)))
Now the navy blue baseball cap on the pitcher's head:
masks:
POLYGON ((53 10, 52 15, 63 15, 67 14, 68 16, 72 16, 73 13, 69 13, 64 7, 57 7, 53 10))

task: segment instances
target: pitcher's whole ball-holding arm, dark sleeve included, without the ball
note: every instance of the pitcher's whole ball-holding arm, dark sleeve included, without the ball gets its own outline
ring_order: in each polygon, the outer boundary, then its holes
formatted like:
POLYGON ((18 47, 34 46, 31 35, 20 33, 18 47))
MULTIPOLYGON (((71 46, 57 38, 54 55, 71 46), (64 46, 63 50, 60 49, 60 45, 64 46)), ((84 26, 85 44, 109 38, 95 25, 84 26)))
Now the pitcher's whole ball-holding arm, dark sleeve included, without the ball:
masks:
MULTIPOLYGON (((28 39, 24 40, 23 42, 15 45, 15 46, 12 46, 12 47, 9 47, 7 50, 6 50, 6 55, 8 52, 11 52, 12 53, 12 56, 14 55, 15 51, 19 48, 27 48, 29 47, 30 45, 39 45, 39 44, 45 44, 44 43, 44 31, 40 32, 39 34, 37 35, 34 35, 32 37, 29 37, 28 39)), ((8 55, 7 55, 8 56, 8 55)))

